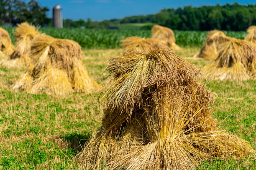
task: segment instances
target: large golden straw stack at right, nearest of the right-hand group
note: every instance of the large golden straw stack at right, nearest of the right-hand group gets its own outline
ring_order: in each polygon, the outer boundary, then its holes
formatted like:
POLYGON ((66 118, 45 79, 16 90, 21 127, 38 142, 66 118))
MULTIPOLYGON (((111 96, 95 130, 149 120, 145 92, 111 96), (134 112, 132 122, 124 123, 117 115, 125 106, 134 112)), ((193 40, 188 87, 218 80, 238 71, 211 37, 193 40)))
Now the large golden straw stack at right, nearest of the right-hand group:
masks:
POLYGON ((218 45, 217 59, 203 72, 211 80, 243 81, 255 77, 256 48, 245 40, 228 38, 218 45))

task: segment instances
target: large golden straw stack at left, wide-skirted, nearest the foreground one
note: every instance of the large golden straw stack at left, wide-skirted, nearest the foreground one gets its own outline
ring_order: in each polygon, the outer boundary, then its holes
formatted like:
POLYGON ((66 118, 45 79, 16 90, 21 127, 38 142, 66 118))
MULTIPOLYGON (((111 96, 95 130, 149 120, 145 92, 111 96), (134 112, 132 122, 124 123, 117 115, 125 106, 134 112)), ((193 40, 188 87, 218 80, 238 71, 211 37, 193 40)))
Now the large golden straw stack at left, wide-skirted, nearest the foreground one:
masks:
POLYGON ((31 45, 31 65, 15 82, 13 90, 64 95, 100 89, 81 60, 81 46, 72 40, 37 37, 31 45))

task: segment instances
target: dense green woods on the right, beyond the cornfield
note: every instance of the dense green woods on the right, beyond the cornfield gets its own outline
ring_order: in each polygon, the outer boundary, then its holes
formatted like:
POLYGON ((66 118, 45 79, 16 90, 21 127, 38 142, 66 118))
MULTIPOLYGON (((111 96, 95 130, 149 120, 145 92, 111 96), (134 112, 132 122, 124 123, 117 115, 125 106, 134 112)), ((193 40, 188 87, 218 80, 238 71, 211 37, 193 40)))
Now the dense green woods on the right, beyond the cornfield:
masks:
POLYGON ((155 15, 125 17, 120 23, 157 23, 174 30, 242 31, 256 25, 256 4, 168 8, 155 15))

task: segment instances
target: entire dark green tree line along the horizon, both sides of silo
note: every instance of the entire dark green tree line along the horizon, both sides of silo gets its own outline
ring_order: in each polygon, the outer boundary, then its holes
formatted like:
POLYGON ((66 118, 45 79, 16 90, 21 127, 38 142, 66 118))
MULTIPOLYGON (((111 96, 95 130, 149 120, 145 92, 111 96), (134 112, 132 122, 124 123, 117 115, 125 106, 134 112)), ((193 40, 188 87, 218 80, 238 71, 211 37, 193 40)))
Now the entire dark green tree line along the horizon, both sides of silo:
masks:
MULTIPOLYGON (((41 7, 36 0, 26 3, 23 0, 0 0, 0 25, 16 25, 27 21, 34 25, 51 26, 47 18, 48 7, 41 7)), ((173 30, 246 30, 256 25, 256 4, 239 5, 238 3, 177 9, 168 8, 151 15, 137 15, 123 19, 103 21, 63 20, 65 28, 108 28, 122 23, 152 23, 172 28, 173 30)), ((145 29, 150 29, 145 27, 145 29)))

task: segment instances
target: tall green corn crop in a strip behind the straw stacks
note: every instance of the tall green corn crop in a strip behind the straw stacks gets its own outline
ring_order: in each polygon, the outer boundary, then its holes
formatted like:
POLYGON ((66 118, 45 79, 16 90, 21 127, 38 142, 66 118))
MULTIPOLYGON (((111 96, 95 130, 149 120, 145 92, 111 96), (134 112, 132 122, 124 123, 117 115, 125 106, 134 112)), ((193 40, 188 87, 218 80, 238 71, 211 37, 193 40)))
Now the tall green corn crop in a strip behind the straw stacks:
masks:
MULTIPOLYGON (((136 25, 136 24, 135 24, 136 25)), ((137 24, 138 25, 138 24, 137 24)), ((140 24, 141 25, 141 24, 140 24)), ((85 49, 109 49, 119 48, 120 40, 125 37, 151 37, 150 30, 139 30, 141 26, 134 27, 134 24, 124 24, 121 30, 104 30, 104 29, 80 29, 80 28, 40 28, 41 32, 56 38, 66 38, 75 40, 85 49), (126 27, 126 28, 125 28, 126 27)), ((10 37, 15 43, 14 28, 5 28, 10 33, 10 37)), ((181 47, 202 47, 207 36, 207 31, 178 31, 174 30, 177 45, 181 47)), ((228 36, 244 39, 246 32, 228 31, 228 36)))

